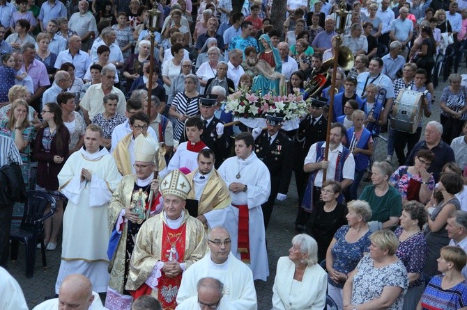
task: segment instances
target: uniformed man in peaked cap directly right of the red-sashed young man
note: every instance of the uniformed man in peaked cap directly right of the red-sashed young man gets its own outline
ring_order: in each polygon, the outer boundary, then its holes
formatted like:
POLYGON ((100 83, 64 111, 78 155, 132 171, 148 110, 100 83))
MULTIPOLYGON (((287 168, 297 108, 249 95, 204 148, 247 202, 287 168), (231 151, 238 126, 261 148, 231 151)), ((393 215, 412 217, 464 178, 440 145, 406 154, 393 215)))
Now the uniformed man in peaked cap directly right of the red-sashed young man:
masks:
POLYGON ((264 229, 268 227, 275 199, 284 200, 287 197, 293 169, 292 140, 280 131, 284 115, 268 113, 266 116, 267 130, 262 131, 254 140, 254 152, 268 167, 271 181, 271 192, 268 201, 261 205, 263 209, 264 229))

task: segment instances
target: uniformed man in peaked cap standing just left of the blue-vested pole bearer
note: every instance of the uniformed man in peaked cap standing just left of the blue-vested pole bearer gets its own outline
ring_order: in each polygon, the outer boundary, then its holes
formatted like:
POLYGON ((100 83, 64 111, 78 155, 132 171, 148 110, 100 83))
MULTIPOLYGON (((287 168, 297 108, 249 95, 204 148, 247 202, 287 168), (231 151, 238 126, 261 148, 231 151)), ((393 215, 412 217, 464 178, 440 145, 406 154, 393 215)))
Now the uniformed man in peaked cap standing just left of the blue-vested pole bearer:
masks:
POLYGON ((309 147, 318 141, 326 140, 328 120, 323 116, 323 107, 326 106, 326 101, 326 98, 312 98, 309 114, 300 122, 296 133, 296 140, 293 147, 293 153, 296 154, 296 157, 293 170, 295 171, 298 192, 298 214, 295 221, 295 228, 297 231, 305 231, 305 223, 309 216, 308 213, 300 207, 309 177, 309 173, 303 171, 303 163, 305 162, 309 147))

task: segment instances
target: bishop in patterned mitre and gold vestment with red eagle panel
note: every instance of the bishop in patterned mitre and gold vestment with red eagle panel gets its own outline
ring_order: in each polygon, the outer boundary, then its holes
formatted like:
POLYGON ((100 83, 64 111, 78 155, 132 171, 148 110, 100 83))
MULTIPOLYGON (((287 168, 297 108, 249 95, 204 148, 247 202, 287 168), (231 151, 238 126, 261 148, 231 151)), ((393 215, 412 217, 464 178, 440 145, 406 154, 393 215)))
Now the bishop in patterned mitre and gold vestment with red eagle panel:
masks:
POLYGON ((139 229, 125 288, 134 298, 157 297, 164 309, 173 309, 182 272, 207 252, 204 227, 185 210, 191 186, 180 170, 160 183, 164 210, 139 229))

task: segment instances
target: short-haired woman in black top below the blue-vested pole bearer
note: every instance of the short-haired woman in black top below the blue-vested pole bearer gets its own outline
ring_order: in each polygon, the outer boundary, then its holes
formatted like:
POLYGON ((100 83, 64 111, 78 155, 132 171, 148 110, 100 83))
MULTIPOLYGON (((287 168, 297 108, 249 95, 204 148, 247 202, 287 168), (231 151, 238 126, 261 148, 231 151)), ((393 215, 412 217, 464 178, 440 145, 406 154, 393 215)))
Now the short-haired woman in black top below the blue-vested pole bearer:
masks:
POLYGON ((321 200, 314 205, 305 231, 318 243, 318 260, 326 259, 326 252, 337 229, 346 225, 347 208, 337 202, 342 192, 339 182, 328 180, 321 187, 321 200))

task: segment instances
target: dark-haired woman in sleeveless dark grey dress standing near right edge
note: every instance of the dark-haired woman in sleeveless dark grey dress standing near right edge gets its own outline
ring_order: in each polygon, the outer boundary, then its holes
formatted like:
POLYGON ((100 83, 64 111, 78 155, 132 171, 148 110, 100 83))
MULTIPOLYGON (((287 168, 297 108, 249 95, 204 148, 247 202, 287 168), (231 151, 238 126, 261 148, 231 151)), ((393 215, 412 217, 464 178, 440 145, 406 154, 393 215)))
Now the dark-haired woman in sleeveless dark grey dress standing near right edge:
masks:
POLYGON ((450 242, 446 231, 447 218, 449 218, 452 212, 461 209, 461 204, 456 194, 463 189, 464 182, 458 174, 452 172, 441 174, 438 190, 443 194, 443 201, 431 212, 428 218, 428 225, 424 231, 427 238, 428 253, 427 263, 423 268, 423 272, 430 277, 439 273, 435 263, 436 257, 438 257, 439 250, 450 242))

